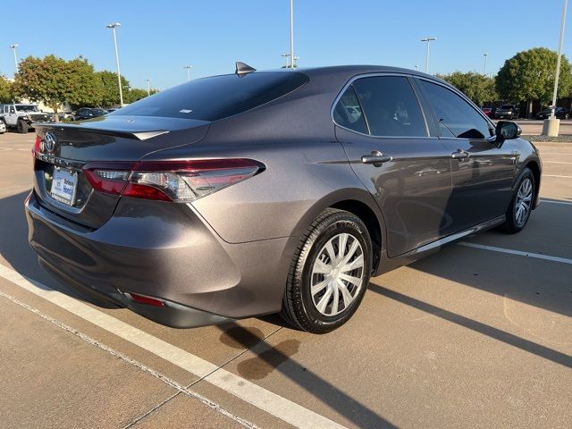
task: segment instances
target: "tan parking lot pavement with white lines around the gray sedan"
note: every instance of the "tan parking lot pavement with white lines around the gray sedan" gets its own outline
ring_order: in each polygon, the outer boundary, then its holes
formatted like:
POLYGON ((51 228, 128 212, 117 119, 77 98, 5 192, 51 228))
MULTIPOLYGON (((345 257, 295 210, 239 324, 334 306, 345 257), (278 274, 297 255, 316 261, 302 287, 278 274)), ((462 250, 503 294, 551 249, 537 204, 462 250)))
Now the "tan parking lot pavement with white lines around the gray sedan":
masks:
POLYGON ((27 243, 33 139, 0 135, 0 427, 570 427, 572 144, 537 145, 525 231, 376 277, 312 335, 176 330, 56 282, 27 243))

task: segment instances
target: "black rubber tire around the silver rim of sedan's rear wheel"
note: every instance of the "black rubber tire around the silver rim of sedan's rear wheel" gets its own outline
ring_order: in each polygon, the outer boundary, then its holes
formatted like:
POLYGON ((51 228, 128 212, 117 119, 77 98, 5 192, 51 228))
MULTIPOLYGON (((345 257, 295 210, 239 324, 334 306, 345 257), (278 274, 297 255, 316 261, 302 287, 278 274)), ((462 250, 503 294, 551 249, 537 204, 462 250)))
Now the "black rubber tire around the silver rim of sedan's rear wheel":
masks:
MULTIPOLYGON (((338 243, 340 243, 340 240, 338 240, 338 243)), ((336 249, 337 253, 340 253, 339 248, 340 246, 336 249)), ((349 248, 349 244, 347 248, 349 248)), ((282 299, 282 312, 280 314, 282 318, 296 328, 314 333, 331 332, 345 324, 356 312, 366 293, 367 283, 372 271, 372 254, 372 242, 369 232, 359 217, 343 210, 333 208, 324 210, 307 228, 292 258, 290 273, 288 274, 286 289, 282 299), (317 305, 312 298, 311 282, 313 276, 322 275, 323 279, 326 276, 325 274, 313 274, 313 267, 316 259, 320 255, 324 255, 326 243, 329 240, 335 240, 335 237, 342 233, 349 234, 348 240, 352 240, 352 243, 354 240, 357 240, 359 243, 360 247, 357 251, 362 252, 363 267, 357 269, 359 273, 352 272, 351 274, 355 278, 360 278, 361 284, 360 286, 354 286, 352 283, 347 282, 348 290, 355 287, 354 291, 351 292, 353 300, 349 302, 347 307, 341 303, 341 300, 344 300, 345 303, 343 296, 338 295, 341 292, 336 291, 335 294, 332 292, 327 302, 332 302, 333 307, 333 300, 336 297, 336 307, 340 303, 343 309, 337 315, 324 315, 317 309, 317 305)), ((351 260, 355 260, 354 257, 349 259, 349 261, 351 260)), ((324 288, 324 295, 328 293, 329 286, 324 288)))

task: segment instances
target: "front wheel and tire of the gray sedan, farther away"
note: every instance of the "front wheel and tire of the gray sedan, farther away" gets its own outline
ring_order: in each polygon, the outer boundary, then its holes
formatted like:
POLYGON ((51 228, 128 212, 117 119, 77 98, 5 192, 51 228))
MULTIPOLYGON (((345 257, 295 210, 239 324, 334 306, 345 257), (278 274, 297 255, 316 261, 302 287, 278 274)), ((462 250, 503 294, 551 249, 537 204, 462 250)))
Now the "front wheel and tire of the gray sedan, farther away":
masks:
POLYGON ((518 175, 517 186, 510 200, 509 208, 507 208, 507 219, 499 228, 501 231, 508 234, 515 234, 525 228, 530 214, 533 211, 535 191, 536 183, 534 181, 534 174, 528 167, 525 167, 518 175), (521 206, 521 210, 526 210, 524 214, 518 210, 521 206))

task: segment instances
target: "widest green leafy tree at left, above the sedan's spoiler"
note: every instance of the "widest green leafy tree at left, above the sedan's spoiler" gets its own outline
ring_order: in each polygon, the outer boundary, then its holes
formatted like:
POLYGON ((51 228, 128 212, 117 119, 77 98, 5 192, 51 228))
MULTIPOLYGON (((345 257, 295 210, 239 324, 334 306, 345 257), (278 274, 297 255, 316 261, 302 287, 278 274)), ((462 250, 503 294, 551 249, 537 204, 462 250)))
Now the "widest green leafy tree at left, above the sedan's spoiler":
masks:
POLYGON ((13 94, 43 102, 54 109, 57 121, 60 105, 92 105, 101 97, 101 88, 94 79, 93 65, 82 57, 68 62, 55 55, 29 56, 19 64, 13 94))

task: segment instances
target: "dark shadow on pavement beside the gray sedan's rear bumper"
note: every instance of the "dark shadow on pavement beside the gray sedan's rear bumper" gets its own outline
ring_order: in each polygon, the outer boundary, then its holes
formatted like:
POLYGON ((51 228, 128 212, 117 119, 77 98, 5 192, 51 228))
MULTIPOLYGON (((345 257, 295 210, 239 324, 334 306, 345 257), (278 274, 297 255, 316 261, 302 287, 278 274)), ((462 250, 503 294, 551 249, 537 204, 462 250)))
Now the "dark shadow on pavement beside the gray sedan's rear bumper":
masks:
POLYGON ((13 269, 24 277, 40 282, 51 289, 97 307, 117 308, 104 299, 97 299, 79 290, 66 288, 38 264, 38 257, 28 243, 28 223, 24 213, 24 200, 28 194, 29 191, 25 191, 0 199, 0 257, 3 257, 8 265, 12 265, 13 269))

